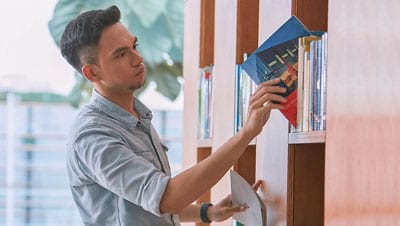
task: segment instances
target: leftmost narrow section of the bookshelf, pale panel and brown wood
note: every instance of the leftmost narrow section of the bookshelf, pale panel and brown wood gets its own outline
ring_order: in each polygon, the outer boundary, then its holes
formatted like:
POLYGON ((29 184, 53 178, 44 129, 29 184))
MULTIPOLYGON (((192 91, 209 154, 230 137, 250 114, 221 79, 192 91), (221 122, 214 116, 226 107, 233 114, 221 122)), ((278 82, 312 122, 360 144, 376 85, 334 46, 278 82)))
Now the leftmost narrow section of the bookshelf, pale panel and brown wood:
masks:
MULTIPOLYGON (((184 93, 190 93, 184 100, 183 162, 191 166, 207 158, 212 153, 213 137, 198 138, 198 80, 201 68, 214 64, 214 0, 185 1, 185 61, 183 73, 186 75, 184 93)), ((214 119, 213 119, 214 120, 214 119)), ((212 129, 212 128, 210 128, 212 129)), ((211 201, 211 191, 207 191, 196 203, 211 201)), ((196 223, 196 226, 209 224, 196 223)))

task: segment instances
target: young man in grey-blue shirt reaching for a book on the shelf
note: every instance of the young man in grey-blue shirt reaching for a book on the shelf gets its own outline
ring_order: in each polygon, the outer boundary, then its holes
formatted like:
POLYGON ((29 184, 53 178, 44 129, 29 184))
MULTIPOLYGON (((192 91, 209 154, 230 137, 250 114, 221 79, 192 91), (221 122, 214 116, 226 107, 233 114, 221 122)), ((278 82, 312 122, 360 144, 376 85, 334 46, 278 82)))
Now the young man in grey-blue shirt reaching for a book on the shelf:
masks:
POLYGON ((145 81, 138 38, 112 6, 81 14, 61 37, 65 59, 94 87, 68 141, 67 167, 74 201, 85 225, 179 225, 223 221, 234 212, 229 196, 216 205, 192 202, 215 185, 262 130, 285 89, 261 84, 244 127, 213 155, 171 178, 165 147, 151 111, 134 96, 145 81))

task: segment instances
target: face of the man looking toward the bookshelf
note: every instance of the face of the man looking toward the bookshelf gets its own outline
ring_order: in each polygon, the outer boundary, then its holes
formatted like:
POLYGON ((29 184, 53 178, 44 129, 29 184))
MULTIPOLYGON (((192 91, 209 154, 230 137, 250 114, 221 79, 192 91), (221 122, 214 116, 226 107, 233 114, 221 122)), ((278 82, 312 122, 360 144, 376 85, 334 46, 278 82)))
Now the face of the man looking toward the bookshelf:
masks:
POLYGON ((132 93, 143 86, 145 67, 136 50, 137 37, 121 23, 106 28, 98 44, 99 86, 109 92, 132 93))

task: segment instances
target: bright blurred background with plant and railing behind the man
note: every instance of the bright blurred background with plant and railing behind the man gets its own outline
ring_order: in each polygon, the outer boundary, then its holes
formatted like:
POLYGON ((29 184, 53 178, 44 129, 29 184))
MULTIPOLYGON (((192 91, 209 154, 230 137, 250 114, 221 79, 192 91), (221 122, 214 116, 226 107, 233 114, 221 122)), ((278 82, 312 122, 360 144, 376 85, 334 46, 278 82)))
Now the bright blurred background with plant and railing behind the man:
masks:
POLYGON ((87 102, 91 86, 64 61, 58 40, 80 12, 112 4, 120 6, 122 22, 139 37, 148 69, 139 98, 153 110, 173 174, 181 170, 183 0, 4 1, 0 226, 82 225, 68 187, 65 144, 69 122, 87 102))

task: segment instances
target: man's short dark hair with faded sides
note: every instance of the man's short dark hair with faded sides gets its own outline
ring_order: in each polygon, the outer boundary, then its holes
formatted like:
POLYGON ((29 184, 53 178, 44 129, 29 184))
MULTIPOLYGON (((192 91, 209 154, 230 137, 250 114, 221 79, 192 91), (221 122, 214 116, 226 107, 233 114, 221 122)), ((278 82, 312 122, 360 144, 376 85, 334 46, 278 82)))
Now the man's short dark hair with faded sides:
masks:
POLYGON ((65 27, 60 40, 61 54, 78 72, 84 63, 96 63, 101 33, 118 23, 120 17, 116 6, 80 14, 65 27))

